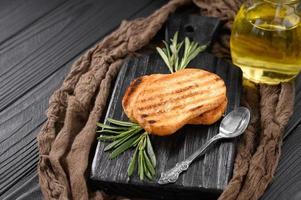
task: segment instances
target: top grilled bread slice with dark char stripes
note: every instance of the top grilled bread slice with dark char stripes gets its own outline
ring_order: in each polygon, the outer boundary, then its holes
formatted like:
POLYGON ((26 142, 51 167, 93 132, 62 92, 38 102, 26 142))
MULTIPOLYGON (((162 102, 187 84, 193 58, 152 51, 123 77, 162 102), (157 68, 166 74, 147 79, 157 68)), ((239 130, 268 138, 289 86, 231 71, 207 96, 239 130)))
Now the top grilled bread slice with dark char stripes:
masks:
POLYGON ((224 81, 200 69, 159 77, 137 94, 133 118, 149 133, 169 135, 226 99, 224 81))

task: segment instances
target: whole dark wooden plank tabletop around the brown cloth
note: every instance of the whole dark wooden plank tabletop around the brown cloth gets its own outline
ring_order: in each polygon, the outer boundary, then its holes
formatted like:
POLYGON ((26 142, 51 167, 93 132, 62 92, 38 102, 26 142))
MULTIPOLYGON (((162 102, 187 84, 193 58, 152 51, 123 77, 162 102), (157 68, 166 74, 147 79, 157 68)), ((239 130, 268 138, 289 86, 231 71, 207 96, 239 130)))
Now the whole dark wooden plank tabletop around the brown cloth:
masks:
MULTIPOLYGON (((36 136, 73 61, 124 19, 164 0, 0 1, 0 199, 42 199, 36 136)), ((262 199, 301 199, 301 77, 273 183, 262 199)))

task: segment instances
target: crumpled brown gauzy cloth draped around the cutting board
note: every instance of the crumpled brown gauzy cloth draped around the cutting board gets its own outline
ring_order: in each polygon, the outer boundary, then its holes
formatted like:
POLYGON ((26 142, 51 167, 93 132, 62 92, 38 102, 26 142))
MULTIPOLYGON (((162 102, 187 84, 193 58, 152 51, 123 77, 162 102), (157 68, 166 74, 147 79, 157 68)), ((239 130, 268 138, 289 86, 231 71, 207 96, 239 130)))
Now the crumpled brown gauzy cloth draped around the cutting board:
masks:
MULTIPOLYGON (((123 59, 148 44, 169 14, 190 2, 172 0, 147 18, 122 22, 73 64, 61 88, 50 98, 48 120, 38 135, 38 172, 45 199, 113 198, 91 192, 86 182, 89 156, 96 141, 95 123, 104 114, 112 81, 123 59)), ((229 28, 240 3, 195 1, 205 14, 224 22, 221 37, 214 45, 219 55, 229 56, 229 28)), ((258 199, 262 195, 272 180, 283 129, 292 114, 292 84, 249 85, 245 87, 244 104, 252 110, 252 122, 237 150, 233 178, 220 199, 258 199)))

